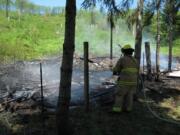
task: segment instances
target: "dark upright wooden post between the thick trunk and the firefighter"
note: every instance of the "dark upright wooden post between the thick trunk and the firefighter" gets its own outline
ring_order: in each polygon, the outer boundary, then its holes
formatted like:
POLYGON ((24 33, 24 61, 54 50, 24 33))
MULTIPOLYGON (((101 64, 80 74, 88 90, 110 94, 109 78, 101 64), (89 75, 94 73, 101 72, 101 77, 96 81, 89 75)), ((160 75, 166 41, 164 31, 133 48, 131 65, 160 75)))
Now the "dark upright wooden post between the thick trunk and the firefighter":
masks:
POLYGON ((89 111, 89 44, 84 42, 84 99, 85 99, 85 110, 89 111))

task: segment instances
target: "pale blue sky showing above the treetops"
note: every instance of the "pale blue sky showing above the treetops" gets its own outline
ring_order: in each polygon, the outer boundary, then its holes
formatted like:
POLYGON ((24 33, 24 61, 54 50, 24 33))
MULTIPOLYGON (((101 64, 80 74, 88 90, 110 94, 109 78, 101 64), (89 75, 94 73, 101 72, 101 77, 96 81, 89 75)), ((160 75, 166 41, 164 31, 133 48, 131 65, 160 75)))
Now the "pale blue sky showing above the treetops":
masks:
MULTIPOLYGON (((53 6, 62 6, 62 7, 64 7, 65 3, 66 3, 66 0, 29 0, 29 1, 31 1, 34 4, 37 4, 37 5, 50 6, 50 7, 53 7, 53 6)), ((76 0, 77 8, 81 7, 81 3, 83 1, 84 0, 76 0)), ((121 0, 116 0, 116 1, 121 1, 121 0)), ((135 7, 135 4, 133 4, 133 7, 135 7)))

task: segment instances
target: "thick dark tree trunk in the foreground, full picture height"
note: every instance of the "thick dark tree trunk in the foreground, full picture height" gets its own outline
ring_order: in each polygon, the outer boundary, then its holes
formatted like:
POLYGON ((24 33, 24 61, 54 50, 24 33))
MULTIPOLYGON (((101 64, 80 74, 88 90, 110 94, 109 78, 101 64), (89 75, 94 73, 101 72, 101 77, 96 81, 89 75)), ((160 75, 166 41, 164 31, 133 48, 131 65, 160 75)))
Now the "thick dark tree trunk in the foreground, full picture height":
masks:
POLYGON ((61 65, 61 80, 57 106, 58 135, 69 135, 69 104, 71 99, 71 79, 75 47, 76 0, 66 0, 65 39, 61 65))

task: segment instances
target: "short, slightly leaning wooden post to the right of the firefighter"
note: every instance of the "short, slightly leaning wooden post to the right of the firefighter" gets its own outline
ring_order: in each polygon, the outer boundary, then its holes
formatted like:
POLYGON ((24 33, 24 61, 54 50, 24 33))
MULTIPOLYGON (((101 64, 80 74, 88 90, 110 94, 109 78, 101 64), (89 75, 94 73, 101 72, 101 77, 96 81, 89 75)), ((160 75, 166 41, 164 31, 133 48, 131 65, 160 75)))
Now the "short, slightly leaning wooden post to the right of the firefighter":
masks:
POLYGON ((147 63, 147 79, 151 80, 151 50, 150 50, 150 43, 145 42, 145 52, 146 52, 146 63, 147 63))

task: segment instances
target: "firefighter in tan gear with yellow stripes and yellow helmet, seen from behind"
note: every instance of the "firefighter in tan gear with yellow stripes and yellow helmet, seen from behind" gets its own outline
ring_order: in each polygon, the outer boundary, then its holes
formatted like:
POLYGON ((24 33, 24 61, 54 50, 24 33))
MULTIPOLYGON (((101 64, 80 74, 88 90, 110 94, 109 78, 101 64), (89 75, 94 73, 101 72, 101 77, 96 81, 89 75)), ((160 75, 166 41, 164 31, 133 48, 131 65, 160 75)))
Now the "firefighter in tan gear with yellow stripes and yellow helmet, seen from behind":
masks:
POLYGON ((122 109, 130 112, 133 109, 133 95, 137 87, 138 65, 132 56, 134 49, 127 44, 121 49, 123 56, 113 68, 113 75, 118 75, 115 103, 112 112, 119 113, 122 109))

